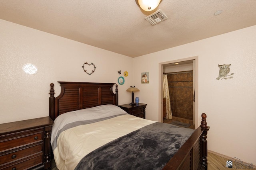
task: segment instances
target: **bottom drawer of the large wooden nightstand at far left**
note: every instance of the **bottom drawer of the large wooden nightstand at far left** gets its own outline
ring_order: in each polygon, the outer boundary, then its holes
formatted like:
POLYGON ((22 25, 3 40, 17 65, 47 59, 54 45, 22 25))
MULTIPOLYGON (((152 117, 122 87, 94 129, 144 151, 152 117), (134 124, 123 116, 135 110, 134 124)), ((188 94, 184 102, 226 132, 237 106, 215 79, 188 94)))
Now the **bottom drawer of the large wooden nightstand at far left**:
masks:
POLYGON ((29 169, 34 166, 37 166, 39 164, 42 164, 42 155, 38 155, 34 158, 31 158, 16 164, 8 164, 7 167, 4 167, 3 169, 1 169, 0 167, 0 169, 1 170, 24 170, 24 169, 29 169))

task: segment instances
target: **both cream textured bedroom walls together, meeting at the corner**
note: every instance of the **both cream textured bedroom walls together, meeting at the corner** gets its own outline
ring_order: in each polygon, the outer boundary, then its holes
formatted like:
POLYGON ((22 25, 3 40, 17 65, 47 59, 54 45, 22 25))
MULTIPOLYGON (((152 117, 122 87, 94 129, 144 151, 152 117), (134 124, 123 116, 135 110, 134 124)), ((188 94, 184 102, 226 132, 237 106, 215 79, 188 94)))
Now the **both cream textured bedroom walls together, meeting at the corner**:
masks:
POLYGON ((0 123, 48 116, 51 82, 57 96, 57 81, 117 83, 117 70, 129 72, 119 104, 130 103, 126 89, 135 85, 134 97, 148 104, 146 118, 158 121, 159 63, 198 56, 198 112, 211 126, 208 149, 256 164, 256 26, 133 59, 4 20, 0 37, 0 123), (97 66, 92 75, 84 62, 97 66), (38 73, 25 74, 26 63, 38 73), (232 64, 234 78, 216 80, 218 64, 232 64), (141 84, 141 72, 150 72, 149 84, 141 84))

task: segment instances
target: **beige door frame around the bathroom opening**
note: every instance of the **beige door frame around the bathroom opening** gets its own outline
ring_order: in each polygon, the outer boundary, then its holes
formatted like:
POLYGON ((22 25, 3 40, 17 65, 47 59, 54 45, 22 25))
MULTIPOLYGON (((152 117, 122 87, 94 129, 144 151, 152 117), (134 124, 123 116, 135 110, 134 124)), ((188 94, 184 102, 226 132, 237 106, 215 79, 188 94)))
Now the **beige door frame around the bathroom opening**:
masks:
POLYGON ((158 103, 158 121, 163 122, 163 65, 165 64, 171 64, 171 63, 178 63, 183 61, 189 61, 189 60, 195 60, 195 66, 193 68, 193 72, 195 75, 194 81, 195 81, 195 128, 199 126, 199 120, 198 120, 198 56, 195 57, 189 57, 184 59, 178 59, 178 60, 172 60, 172 61, 166 61, 163 63, 159 63, 159 103, 158 103))

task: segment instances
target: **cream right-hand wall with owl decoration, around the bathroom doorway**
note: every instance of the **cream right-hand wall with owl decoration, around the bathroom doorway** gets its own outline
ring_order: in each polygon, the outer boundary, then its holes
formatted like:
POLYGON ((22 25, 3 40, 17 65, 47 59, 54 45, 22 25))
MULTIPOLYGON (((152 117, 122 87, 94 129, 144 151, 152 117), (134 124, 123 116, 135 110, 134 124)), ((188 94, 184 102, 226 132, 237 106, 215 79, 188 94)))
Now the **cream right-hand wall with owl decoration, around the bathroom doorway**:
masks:
POLYGON ((194 56, 198 111, 207 114, 210 126, 208 149, 255 165, 256 26, 134 58, 133 82, 140 102, 148 104, 146 119, 158 121, 159 63, 194 56), (234 78, 216 80, 218 64, 231 64, 234 78), (141 84, 141 72, 149 72, 149 84, 141 84))

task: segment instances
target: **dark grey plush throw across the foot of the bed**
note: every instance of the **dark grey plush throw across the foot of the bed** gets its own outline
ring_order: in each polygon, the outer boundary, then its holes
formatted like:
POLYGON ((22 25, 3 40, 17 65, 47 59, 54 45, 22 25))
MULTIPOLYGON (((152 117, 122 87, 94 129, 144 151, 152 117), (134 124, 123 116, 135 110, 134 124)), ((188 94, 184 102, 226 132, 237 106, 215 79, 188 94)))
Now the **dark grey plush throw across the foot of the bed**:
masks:
POLYGON ((194 131, 167 123, 153 123, 90 152, 75 169, 162 169, 194 131))

